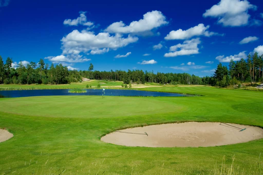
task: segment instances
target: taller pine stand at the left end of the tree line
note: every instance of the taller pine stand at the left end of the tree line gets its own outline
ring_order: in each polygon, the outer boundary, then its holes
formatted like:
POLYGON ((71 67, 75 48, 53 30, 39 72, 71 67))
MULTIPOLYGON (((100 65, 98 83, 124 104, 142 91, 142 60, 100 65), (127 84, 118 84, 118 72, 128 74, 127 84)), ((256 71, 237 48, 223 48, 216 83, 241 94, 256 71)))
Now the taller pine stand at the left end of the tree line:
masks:
POLYGON ((18 67, 12 67, 12 59, 7 58, 4 64, 0 56, 0 84, 67 84, 75 80, 73 76, 69 75, 68 68, 62 64, 54 66, 44 63, 40 59, 38 64, 31 61, 25 67, 22 61, 18 63, 18 67))

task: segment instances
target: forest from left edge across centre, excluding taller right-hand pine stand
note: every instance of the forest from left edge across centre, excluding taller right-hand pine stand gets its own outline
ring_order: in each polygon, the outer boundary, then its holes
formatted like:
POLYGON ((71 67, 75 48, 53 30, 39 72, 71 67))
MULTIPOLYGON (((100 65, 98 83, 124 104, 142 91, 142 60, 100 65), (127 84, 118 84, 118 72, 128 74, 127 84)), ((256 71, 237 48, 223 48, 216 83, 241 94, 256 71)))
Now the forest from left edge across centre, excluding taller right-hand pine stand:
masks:
POLYGON ((188 73, 160 73, 154 74, 153 71, 143 70, 110 70, 97 71, 90 63, 88 70, 68 70, 62 64, 54 65, 45 63, 40 59, 38 63, 31 61, 24 66, 22 61, 17 68, 13 68, 12 59, 7 58, 6 63, 0 56, 0 84, 67 84, 80 82, 82 77, 106 80, 123 81, 124 84, 131 83, 159 83, 159 84, 193 84, 208 85, 214 81, 213 77, 199 77, 188 73))

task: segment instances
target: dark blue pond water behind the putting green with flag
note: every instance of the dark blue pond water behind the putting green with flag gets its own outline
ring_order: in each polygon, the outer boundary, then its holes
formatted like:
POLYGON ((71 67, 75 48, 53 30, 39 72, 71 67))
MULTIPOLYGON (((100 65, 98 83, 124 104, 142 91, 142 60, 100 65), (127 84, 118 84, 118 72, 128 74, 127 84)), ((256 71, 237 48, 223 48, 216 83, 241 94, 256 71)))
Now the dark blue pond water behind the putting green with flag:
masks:
MULTIPOLYGON (((87 89, 84 93, 70 93, 69 89, 44 89, 44 90, 12 90, 0 91, 0 97, 31 97, 50 95, 102 95, 102 89, 87 89)), ((105 89, 105 96, 152 96, 152 97, 181 97, 192 96, 167 92, 150 92, 138 90, 105 89)))

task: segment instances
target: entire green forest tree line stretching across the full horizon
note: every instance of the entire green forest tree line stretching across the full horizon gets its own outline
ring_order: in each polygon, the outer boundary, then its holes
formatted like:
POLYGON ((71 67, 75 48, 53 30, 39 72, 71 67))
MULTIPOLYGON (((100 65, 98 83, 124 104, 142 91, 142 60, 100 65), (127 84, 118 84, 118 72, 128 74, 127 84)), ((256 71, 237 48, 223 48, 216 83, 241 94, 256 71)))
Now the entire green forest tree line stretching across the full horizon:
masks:
POLYGON ((143 70, 110 70, 97 71, 90 63, 88 70, 68 70, 62 64, 54 65, 45 63, 40 59, 38 63, 31 61, 24 66, 22 61, 17 68, 13 68, 12 59, 7 58, 6 63, 0 56, 0 84, 67 84, 71 82, 81 82, 82 77, 106 80, 123 81, 124 84, 131 83, 159 83, 159 84, 192 84, 192 85, 212 85, 226 87, 239 82, 259 82, 263 81, 263 55, 258 53, 248 55, 245 60, 230 60, 229 66, 217 65, 213 76, 199 77, 188 73, 160 73, 143 70))

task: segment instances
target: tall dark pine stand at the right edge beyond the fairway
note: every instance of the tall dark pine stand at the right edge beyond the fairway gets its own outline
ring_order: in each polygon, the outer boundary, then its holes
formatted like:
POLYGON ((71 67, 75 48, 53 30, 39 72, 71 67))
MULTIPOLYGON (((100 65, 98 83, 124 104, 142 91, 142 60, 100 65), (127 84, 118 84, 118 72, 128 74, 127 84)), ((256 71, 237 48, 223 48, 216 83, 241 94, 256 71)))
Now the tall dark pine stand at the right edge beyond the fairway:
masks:
POLYGON ((263 54, 258 56, 254 53, 247 55, 247 60, 242 58, 240 61, 230 60, 229 66, 217 65, 211 85, 226 87, 235 85, 239 82, 259 82, 263 81, 263 54))

